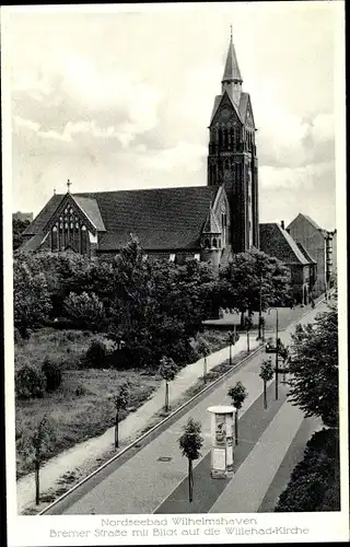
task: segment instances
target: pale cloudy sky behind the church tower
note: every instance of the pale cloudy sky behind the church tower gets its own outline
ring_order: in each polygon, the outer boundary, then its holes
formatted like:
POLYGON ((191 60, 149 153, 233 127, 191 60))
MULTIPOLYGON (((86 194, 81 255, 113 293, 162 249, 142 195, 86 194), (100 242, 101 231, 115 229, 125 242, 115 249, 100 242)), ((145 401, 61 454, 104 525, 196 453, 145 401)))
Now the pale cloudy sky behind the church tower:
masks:
POLYGON ((303 212, 335 226, 334 2, 106 9, 7 19, 13 211, 37 214, 68 178, 72 193, 206 185, 232 24, 260 222, 303 212))

